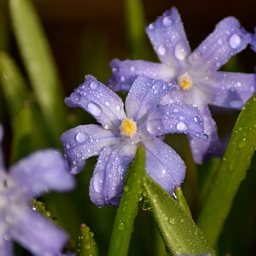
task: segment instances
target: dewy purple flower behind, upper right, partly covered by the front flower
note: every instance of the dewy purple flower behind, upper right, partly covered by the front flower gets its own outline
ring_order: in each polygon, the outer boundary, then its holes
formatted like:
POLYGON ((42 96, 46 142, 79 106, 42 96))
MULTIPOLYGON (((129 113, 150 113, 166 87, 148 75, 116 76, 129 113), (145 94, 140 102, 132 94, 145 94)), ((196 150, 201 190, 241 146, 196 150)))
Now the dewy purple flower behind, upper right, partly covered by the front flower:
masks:
POLYGON ((179 89, 165 97, 161 104, 185 102, 201 110, 208 142, 188 135, 197 163, 210 156, 221 156, 224 148, 208 104, 241 109, 255 91, 255 74, 217 71, 232 55, 247 47, 251 35, 234 17, 221 20, 215 30, 192 53, 177 9, 166 11, 150 24, 148 38, 161 63, 149 61, 111 61, 113 77, 108 83, 113 90, 129 90, 138 75, 153 79, 177 81, 179 89))

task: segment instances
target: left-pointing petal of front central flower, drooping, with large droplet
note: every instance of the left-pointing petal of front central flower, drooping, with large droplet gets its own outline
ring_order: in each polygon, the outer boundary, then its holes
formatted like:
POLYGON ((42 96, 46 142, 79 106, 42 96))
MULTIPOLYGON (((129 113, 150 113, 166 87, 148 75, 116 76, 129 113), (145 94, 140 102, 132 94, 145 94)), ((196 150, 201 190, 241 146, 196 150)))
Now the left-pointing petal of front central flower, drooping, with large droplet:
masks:
POLYGON ((119 142, 120 136, 100 125, 79 125, 64 132, 61 143, 67 168, 73 173, 84 169, 85 159, 99 154, 102 148, 119 142))

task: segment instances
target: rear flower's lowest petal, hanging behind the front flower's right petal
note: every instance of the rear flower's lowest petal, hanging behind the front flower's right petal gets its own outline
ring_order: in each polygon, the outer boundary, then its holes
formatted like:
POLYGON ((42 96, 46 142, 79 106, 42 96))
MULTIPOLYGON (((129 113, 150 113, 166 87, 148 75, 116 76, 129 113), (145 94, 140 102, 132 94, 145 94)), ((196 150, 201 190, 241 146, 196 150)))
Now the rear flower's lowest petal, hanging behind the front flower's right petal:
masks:
POLYGON ((201 108, 201 117, 203 118, 204 130, 208 136, 208 141, 205 142, 188 134, 193 159, 197 164, 206 162, 212 156, 222 157, 224 154, 224 148, 218 138, 217 125, 214 119, 212 119, 212 115, 207 106, 201 108))

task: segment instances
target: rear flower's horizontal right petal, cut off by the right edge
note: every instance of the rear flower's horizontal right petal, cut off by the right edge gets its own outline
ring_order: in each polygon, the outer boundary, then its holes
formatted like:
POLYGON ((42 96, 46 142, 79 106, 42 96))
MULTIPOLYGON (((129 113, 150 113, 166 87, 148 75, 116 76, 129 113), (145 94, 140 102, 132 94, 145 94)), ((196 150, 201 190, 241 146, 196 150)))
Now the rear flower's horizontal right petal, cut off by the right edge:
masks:
POLYGON ((201 79, 198 84, 210 91, 209 104, 241 109, 255 92, 256 75, 216 72, 209 79, 201 79))

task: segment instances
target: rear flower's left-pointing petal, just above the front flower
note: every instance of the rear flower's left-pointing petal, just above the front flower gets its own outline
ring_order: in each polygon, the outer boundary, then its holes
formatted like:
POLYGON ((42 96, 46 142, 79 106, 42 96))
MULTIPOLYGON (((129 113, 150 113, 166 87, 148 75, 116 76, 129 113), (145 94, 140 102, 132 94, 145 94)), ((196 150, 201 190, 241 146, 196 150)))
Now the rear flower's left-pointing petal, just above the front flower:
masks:
POLYGON ((113 77, 108 80, 108 86, 117 91, 131 89, 131 84, 139 75, 145 75, 150 79, 163 79, 171 81, 175 76, 175 70, 162 63, 150 61, 119 61, 114 59, 110 62, 113 77))

